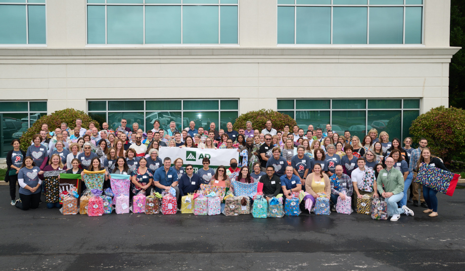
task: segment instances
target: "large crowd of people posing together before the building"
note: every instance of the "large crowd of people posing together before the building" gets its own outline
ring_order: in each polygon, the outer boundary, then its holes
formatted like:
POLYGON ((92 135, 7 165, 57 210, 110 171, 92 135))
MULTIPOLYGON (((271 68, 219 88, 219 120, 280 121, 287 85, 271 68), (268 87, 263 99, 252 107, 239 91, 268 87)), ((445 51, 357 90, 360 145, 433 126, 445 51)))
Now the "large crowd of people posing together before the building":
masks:
MULTIPOLYGON (((86 169, 105 170, 104 188, 110 187, 111 174, 131 175, 131 196, 141 190, 147 194, 152 190, 168 192, 173 187, 179 204, 181 196, 195 192, 201 184, 232 190, 232 181, 263 183, 267 199, 280 193, 290 199, 301 190, 316 199, 318 193, 324 192, 331 200, 332 210, 338 197, 353 197, 356 206, 357 199, 368 194, 384 198, 388 215, 397 221, 400 214, 413 215, 407 202, 413 200, 413 206, 418 206, 419 199, 425 213, 437 216, 437 191, 413 181, 422 163, 447 171, 442 161, 432 155, 426 139, 422 138, 414 149, 411 138, 390 139, 388 133, 378 134, 376 129, 369 130, 360 140, 349 131, 343 135, 335 133, 330 124, 326 125, 326 131, 309 125, 305 132, 297 125, 292 131, 289 125, 277 131, 271 121, 262 130, 252 129, 249 121, 238 131, 232 129, 230 122, 226 130, 218 131, 213 122, 208 130, 191 122, 182 131, 171 122, 164 131, 155 120, 154 128, 146 132, 137 123, 132 129, 127 127, 125 119, 116 131, 108 129, 107 123, 102 124, 100 131, 92 122, 89 129, 81 125, 82 121, 77 119, 74 129, 63 123, 50 132, 44 124, 40 133, 32 137, 26 152, 19 148, 18 140, 13 140, 13 150, 7 155, 6 177, 10 181, 12 205, 24 210, 37 208, 44 175, 83 175, 82 169, 86 169), (209 158, 204 158, 203 168, 196 173, 193 165, 183 167, 184 161, 179 157, 173 160, 166 157, 162 161, 158 157, 160 147, 237 149, 242 158, 239 161, 232 158, 229 167, 219 166, 216 170, 209 167, 209 158), (16 183, 21 204, 16 200, 16 183), (367 183, 371 185, 367 187, 367 183)), ((59 207, 57 202, 47 205, 59 207)))

